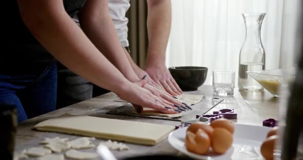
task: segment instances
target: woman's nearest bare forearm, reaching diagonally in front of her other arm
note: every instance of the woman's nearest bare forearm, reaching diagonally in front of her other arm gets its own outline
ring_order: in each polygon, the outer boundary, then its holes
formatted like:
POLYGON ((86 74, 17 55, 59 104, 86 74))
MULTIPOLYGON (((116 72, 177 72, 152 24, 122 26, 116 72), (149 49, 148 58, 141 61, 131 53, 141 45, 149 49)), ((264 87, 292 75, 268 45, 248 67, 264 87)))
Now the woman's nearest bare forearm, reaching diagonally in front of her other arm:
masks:
POLYGON ((60 1, 18 1, 18 5, 34 37, 67 68, 116 93, 131 84, 89 41, 60 1))

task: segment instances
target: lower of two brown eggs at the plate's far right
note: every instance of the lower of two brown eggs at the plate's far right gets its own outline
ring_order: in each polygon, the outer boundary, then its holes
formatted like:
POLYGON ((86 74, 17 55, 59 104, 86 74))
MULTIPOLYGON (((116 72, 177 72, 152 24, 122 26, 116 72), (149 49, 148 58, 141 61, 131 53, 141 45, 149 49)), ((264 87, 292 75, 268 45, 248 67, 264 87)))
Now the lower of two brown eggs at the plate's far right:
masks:
POLYGON ((274 159, 274 148, 276 141, 278 139, 277 135, 272 135, 265 139, 263 144, 261 145, 261 154, 263 155, 264 158, 267 160, 269 159, 274 159))

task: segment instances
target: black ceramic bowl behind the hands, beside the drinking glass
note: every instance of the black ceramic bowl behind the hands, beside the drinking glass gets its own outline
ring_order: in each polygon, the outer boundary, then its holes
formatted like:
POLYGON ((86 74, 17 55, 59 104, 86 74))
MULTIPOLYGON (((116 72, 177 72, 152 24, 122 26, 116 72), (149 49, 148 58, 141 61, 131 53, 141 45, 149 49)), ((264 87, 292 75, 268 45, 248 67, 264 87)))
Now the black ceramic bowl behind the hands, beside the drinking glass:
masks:
POLYGON ((197 90, 205 82, 207 76, 207 67, 169 67, 175 81, 183 91, 197 90))

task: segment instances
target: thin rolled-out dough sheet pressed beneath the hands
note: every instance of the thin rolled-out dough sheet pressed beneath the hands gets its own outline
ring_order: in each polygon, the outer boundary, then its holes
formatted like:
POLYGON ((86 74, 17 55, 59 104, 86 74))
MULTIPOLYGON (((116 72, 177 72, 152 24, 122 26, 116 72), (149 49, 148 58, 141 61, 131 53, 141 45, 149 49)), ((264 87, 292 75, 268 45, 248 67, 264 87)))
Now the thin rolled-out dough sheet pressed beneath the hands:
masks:
MULTIPOLYGON (((196 95, 196 94, 181 94, 177 96, 178 100, 180 102, 183 102, 189 106, 191 105, 195 105, 197 103, 199 103, 202 98, 203 95, 196 95)), ((136 113, 136 114, 140 114, 140 115, 157 115, 157 116, 164 116, 164 117, 169 117, 169 118, 176 118, 176 117, 180 117, 182 115, 182 113, 177 113, 177 114, 167 114, 167 113, 163 113, 151 108, 147 108, 144 107, 142 113, 138 113, 135 109, 131 111, 132 113, 136 113)))

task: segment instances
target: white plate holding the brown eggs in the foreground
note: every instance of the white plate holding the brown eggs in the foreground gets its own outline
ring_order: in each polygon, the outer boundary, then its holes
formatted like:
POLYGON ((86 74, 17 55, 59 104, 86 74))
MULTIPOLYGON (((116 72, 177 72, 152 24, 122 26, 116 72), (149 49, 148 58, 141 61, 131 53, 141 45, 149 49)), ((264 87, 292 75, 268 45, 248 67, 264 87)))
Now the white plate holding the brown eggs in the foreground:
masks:
POLYGON ((260 146, 266 139, 270 127, 235 124, 232 147, 224 154, 209 153, 199 155, 185 148, 185 135, 188 127, 179 128, 168 135, 168 142, 180 152, 195 159, 263 159, 260 146))

